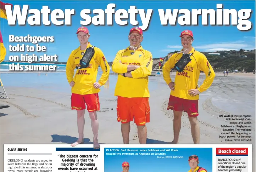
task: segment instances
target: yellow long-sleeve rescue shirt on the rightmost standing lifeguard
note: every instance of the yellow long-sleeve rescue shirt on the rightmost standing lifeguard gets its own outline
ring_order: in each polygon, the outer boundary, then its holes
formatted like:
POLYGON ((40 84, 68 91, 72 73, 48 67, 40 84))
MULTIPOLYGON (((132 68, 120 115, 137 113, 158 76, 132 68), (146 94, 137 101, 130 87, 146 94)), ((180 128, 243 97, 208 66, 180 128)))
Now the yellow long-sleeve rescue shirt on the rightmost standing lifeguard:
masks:
MULTIPOLYGON (((215 78, 215 72, 208 62, 204 54, 195 51, 194 48, 188 53, 193 53, 190 58, 192 59, 182 72, 176 72, 174 91, 171 90, 171 95, 179 98, 198 100, 199 94, 196 96, 190 96, 188 90, 198 89, 201 93, 206 91, 212 84, 215 78), (200 71, 203 71, 206 75, 206 79, 203 84, 198 88, 197 82, 199 79, 200 71)), ((175 53, 163 66, 163 79, 166 84, 172 82, 170 77, 170 71, 174 68, 175 63, 182 57, 182 53, 175 53)))

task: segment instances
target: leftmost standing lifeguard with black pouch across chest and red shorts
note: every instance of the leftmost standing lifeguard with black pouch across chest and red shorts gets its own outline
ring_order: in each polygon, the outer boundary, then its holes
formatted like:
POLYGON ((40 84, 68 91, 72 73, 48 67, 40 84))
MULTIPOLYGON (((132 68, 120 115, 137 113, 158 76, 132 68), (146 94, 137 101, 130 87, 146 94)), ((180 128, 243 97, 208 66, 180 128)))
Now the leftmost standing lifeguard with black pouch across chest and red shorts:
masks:
POLYGON ((83 57, 85 51, 87 48, 93 47, 90 42, 88 42, 90 34, 86 27, 78 28, 77 38, 80 42, 80 46, 71 52, 66 65, 67 80, 72 87, 71 109, 77 110, 77 126, 79 134, 78 140, 75 143, 72 143, 71 146, 75 147, 84 141, 84 113, 86 104, 91 119, 94 149, 99 149, 99 122, 96 113, 97 110, 100 110, 98 92, 100 92, 99 88, 104 85, 108 79, 110 67, 100 48, 94 47, 95 53, 89 62, 89 66, 87 68, 77 69, 74 76, 74 69, 76 67, 81 67, 80 59, 83 57), (103 73, 99 81, 96 82, 99 65, 103 73))

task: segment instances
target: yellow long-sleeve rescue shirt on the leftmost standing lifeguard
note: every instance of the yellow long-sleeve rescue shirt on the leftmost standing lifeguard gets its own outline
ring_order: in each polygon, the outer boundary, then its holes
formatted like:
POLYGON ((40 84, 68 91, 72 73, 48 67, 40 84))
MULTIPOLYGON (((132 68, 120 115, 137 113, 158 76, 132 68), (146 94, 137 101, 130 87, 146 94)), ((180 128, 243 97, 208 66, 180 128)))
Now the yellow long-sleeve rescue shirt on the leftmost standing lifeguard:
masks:
MULTIPOLYGON (((92 47, 90 42, 88 42, 87 48, 89 47, 92 47)), ((71 81, 75 82, 74 86, 71 89, 72 93, 84 95, 100 92, 99 88, 96 89, 93 86, 94 82, 96 82, 99 65, 103 73, 98 82, 101 86, 107 82, 110 73, 110 67, 100 48, 94 47, 94 50, 95 53, 90 61, 89 66, 84 69, 77 69, 75 76, 74 70, 76 69, 76 67, 80 67, 80 59, 83 57, 85 50, 81 51, 79 46, 76 50, 73 50, 71 52, 66 65, 66 75, 68 83, 70 83, 71 81)))

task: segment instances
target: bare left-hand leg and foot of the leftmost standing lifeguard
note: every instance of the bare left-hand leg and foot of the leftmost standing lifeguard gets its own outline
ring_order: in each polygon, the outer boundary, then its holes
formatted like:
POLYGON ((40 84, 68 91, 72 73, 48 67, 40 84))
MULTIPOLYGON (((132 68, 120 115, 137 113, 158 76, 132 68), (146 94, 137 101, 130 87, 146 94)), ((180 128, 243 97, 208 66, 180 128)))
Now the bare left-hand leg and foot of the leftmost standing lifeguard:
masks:
POLYGON ((84 142, 84 109, 77 110, 77 128, 79 134, 78 140, 71 144, 72 147, 84 142))

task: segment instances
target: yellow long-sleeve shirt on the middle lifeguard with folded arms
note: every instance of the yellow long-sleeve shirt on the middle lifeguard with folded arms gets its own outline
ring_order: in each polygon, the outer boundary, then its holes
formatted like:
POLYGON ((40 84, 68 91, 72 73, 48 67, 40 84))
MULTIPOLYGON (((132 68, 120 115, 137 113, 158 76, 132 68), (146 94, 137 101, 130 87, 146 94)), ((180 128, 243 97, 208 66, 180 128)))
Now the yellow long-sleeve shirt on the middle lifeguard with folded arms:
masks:
POLYGON ((150 97, 148 84, 152 65, 151 52, 144 50, 142 46, 135 52, 129 50, 129 47, 118 51, 112 64, 112 71, 118 73, 115 96, 127 98, 150 97), (140 66, 131 72, 133 78, 122 75, 123 73, 127 73, 128 65, 140 66))

